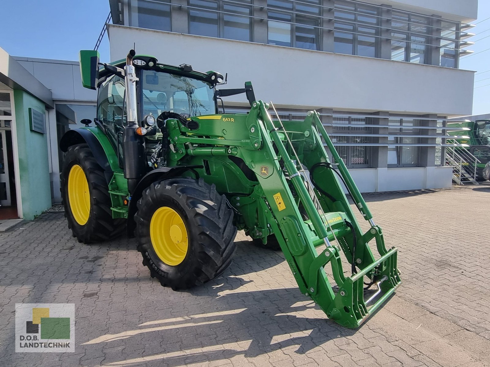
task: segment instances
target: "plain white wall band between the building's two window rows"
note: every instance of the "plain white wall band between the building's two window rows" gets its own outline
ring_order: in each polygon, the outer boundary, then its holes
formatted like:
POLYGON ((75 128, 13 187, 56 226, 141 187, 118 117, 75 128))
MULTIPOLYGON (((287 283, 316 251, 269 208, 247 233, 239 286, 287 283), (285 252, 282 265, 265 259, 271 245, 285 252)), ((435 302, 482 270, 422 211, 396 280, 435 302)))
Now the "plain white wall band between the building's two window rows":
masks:
MULTIPOLYGON (((472 71, 121 25, 109 25, 109 36, 111 60, 136 44, 137 53, 162 63, 227 72, 226 88, 250 80, 258 99, 279 107, 439 115, 472 110, 472 71)), ((246 102, 244 96, 226 100, 246 102)))

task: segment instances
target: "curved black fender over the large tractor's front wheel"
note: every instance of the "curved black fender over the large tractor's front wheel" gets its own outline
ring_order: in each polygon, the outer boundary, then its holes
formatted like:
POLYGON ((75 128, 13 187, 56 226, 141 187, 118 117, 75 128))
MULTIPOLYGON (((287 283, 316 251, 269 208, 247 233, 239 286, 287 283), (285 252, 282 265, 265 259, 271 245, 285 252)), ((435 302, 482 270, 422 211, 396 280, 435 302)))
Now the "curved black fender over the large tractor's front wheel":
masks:
POLYGON ((203 168, 200 165, 189 165, 189 166, 175 166, 175 167, 162 167, 155 168, 148 172, 136 185, 136 188, 129 198, 129 207, 127 213, 127 236, 129 238, 134 237, 134 230, 136 229, 136 222, 134 221, 134 215, 137 211, 138 200, 141 199, 143 191, 152 183, 160 180, 164 180, 170 177, 181 176, 185 171, 189 171, 195 168, 203 168))

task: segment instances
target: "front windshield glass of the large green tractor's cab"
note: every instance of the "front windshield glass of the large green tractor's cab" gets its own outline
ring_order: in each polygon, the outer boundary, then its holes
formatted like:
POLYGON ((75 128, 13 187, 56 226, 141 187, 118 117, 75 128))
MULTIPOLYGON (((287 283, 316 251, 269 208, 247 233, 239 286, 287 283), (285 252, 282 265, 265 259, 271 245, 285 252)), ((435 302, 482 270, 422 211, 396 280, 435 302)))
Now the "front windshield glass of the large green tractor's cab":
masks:
POLYGON ((185 76, 143 70, 143 115, 154 116, 164 111, 199 116, 216 113, 214 88, 200 80, 185 76))

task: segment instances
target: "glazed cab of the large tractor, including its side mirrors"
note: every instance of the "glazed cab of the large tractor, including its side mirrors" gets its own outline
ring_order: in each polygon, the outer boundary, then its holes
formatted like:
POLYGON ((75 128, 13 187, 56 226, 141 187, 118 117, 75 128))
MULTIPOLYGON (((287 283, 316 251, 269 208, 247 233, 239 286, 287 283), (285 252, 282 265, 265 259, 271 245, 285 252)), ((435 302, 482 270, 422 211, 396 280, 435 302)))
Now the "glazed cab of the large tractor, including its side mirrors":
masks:
MULTIPOLYGON (((120 167, 124 165, 123 135, 128 123, 123 70, 126 61, 101 64, 97 51, 80 51, 82 84, 98 90, 94 121, 118 153, 120 167), (99 67, 94 68, 94 64, 99 67)), ((136 100, 137 115, 131 120, 136 122, 136 131, 144 138, 142 149, 148 169, 158 166, 155 164, 159 161, 158 155, 167 148, 168 139, 163 127, 168 118, 177 118, 187 125, 192 117, 216 115, 220 109, 224 113, 221 100, 224 96, 245 93, 250 105, 255 101, 250 82, 245 83, 243 89, 217 90, 217 86, 226 84, 226 77, 216 71, 199 72, 187 64, 160 64, 155 57, 147 55, 135 55, 132 66, 136 95, 131 98, 136 100), (218 100, 221 100, 221 108, 218 100)))

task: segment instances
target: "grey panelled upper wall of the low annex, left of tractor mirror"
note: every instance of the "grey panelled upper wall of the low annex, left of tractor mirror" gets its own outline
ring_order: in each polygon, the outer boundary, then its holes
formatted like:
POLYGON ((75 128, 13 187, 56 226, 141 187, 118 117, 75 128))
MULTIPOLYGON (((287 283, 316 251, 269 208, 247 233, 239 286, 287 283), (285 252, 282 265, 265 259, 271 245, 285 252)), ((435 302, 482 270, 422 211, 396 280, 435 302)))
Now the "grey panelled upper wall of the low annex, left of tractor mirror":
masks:
POLYGON ((52 98, 64 101, 97 101, 97 92, 82 87, 77 61, 15 57, 27 71, 48 87, 52 98))

